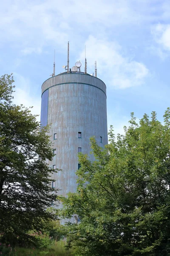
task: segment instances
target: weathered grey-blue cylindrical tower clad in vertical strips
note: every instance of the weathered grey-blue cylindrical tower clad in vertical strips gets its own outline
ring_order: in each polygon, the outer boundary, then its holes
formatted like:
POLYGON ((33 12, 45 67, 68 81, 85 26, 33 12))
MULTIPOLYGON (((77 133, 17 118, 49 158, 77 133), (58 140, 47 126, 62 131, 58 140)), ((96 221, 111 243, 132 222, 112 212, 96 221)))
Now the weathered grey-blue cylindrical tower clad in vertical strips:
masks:
POLYGON ((48 164, 62 169, 52 175, 54 186, 61 189, 58 195, 76 192, 78 151, 93 160, 90 137, 94 136, 99 146, 108 144, 105 84, 81 72, 47 79, 42 84, 41 124, 51 125, 49 135, 56 155, 48 164))

